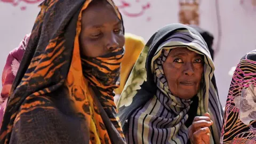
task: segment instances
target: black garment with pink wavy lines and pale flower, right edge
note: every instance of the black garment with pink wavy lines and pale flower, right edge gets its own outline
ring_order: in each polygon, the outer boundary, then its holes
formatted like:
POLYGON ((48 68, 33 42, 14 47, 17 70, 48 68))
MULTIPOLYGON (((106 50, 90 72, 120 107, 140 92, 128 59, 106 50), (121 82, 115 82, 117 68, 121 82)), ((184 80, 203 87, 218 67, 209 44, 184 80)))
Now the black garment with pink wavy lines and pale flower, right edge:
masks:
POLYGON ((256 143, 256 50, 234 72, 221 130, 221 143, 256 143))

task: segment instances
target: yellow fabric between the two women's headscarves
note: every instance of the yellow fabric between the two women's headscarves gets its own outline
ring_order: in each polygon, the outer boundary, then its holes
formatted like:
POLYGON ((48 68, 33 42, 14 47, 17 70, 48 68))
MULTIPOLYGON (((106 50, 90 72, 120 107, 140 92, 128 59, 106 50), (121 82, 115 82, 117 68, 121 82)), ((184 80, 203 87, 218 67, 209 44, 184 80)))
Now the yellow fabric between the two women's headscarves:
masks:
POLYGON ((125 53, 121 62, 120 86, 115 89, 116 94, 121 94, 124 85, 131 73, 134 63, 137 61, 145 42, 142 37, 126 33, 125 34, 125 53))

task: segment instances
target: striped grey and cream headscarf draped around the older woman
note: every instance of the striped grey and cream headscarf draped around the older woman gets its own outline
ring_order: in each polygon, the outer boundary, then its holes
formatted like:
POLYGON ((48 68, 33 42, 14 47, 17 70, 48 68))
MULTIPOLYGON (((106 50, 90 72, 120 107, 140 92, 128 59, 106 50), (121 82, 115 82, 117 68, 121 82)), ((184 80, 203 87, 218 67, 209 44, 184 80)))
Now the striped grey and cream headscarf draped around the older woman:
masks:
POLYGON ((204 76, 197 115, 208 112, 214 122, 211 143, 219 143, 222 107, 214 78, 214 65, 202 36, 182 24, 159 29, 147 42, 125 85, 117 108, 128 143, 187 143, 185 123, 191 100, 174 97, 162 64, 171 49, 187 47, 204 55, 204 76))

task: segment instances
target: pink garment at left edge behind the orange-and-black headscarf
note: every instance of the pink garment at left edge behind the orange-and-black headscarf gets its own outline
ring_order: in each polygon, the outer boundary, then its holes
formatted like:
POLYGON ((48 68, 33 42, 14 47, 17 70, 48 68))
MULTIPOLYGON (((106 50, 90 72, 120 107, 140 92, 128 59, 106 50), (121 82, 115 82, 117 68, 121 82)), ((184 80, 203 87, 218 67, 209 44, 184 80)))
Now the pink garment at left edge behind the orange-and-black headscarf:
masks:
POLYGON ((20 43, 19 47, 15 48, 9 53, 4 66, 2 74, 2 91, 0 98, 0 127, 2 125, 4 110, 8 100, 7 98, 9 97, 9 92, 11 90, 14 78, 17 75, 17 71, 20 66, 20 61, 25 52, 29 37, 30 34, 27 34, 20 43))

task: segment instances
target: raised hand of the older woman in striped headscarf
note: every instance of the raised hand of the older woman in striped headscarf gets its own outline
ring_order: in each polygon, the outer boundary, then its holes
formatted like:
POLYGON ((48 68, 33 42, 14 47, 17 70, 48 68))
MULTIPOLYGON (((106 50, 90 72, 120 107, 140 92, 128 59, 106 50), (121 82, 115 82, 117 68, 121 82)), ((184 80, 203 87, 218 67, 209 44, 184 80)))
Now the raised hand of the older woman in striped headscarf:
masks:
POLYGON ((210 143, 211 132, 209 126, 212 124, 209 113, 205 113, 204 116, 196 116, 193 123, 188 127, 190 142, 193 144, 210 143))

